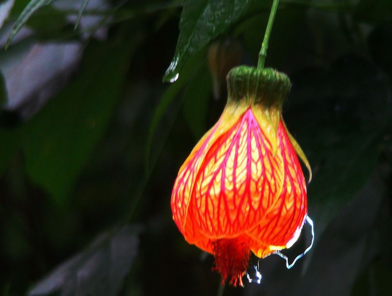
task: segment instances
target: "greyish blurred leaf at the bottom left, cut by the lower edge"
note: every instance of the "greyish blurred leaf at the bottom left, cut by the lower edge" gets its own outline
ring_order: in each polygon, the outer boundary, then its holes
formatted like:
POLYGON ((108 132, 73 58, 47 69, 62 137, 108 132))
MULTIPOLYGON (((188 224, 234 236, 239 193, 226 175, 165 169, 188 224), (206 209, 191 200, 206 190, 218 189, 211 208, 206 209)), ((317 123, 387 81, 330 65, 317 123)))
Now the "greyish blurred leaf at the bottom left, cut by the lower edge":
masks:
POLYGON ((91 246, 38 282, 29 296, 116 296, 138 253, 140 229, 125 226, 101 234, 91 246))

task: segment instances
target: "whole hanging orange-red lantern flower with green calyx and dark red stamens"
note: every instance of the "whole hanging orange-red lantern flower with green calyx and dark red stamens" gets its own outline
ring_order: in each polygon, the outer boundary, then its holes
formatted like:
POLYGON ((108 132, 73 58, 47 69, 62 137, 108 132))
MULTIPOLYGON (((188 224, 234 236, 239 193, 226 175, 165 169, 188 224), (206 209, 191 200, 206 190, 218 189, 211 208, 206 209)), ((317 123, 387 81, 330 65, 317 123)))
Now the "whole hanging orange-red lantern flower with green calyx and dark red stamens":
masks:
POLYGON ((233 68, 218 122, 181 166, 172 190, 173 219, 186 241, 214 255, 215 267, 243 285, 250 253, 290 248, 307 216, 310 171, 282 118, 291 83, 271 68, 233 68))

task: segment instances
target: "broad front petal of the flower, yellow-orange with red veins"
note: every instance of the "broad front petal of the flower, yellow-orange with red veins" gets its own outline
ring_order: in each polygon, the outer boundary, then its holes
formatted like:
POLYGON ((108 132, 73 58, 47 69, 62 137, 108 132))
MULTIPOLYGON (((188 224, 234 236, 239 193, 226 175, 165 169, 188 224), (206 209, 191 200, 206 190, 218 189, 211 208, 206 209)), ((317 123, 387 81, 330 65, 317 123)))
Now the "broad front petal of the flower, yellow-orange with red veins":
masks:
POLYGON ((238 236, 276 203, 282 183, 283 159, 273 156, 270 141, 248 108, 205 154, 186 224, 210 239, 238 236))

